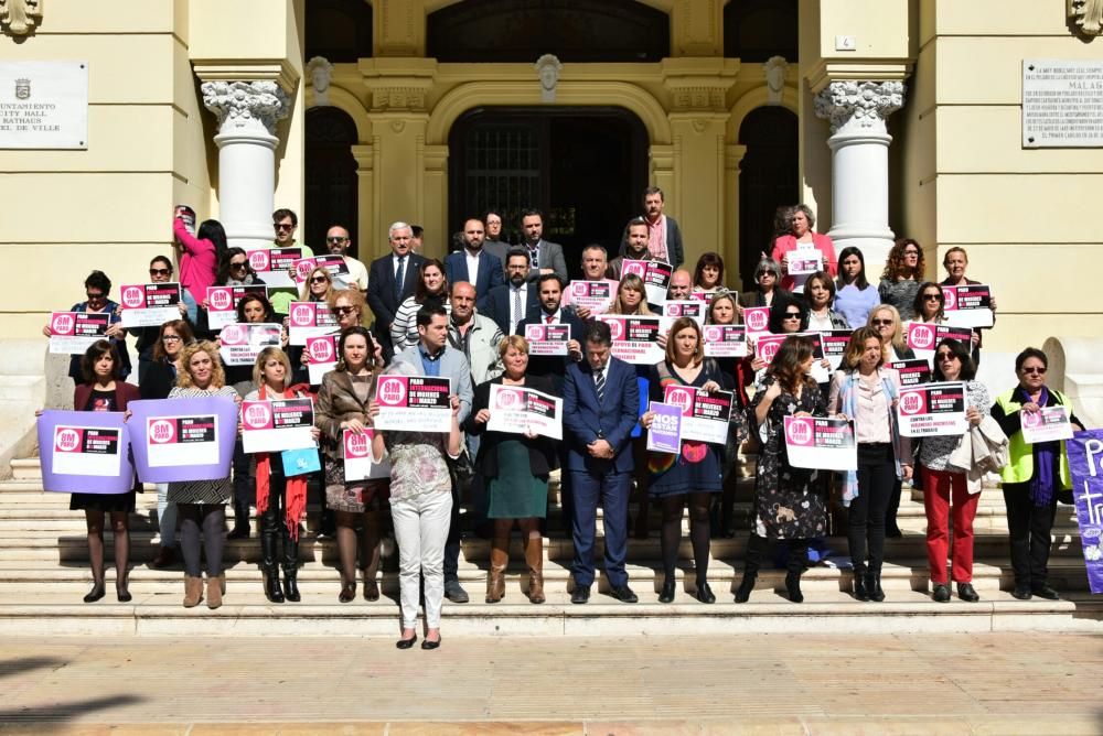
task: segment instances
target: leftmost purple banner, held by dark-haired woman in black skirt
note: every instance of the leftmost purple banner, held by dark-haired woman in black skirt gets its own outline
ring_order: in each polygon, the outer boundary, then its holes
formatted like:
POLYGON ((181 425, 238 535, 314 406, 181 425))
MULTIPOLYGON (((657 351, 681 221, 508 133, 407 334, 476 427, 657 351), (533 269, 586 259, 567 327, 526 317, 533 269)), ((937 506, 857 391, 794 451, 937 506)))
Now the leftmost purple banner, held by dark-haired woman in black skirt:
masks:
POLYGON ((125 494, 133 488, 135 467, 122 416, 118 411, 42 412, 42 488, 60 494, 125 494))

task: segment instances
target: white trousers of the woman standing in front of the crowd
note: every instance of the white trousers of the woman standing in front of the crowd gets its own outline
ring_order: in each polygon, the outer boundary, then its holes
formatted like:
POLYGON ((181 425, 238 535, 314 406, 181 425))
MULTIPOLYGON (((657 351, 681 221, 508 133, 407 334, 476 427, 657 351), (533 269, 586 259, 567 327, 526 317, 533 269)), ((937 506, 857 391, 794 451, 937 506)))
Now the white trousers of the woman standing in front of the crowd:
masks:
POLYGON ((417 627, 419 576, 425 576, 425 620, 440 628, 445 598, 445 542, 452 518, 452 495, 429 491, 414 498, 390 499, 390 518, 398 542, 398 584, 403 628, 417 627))

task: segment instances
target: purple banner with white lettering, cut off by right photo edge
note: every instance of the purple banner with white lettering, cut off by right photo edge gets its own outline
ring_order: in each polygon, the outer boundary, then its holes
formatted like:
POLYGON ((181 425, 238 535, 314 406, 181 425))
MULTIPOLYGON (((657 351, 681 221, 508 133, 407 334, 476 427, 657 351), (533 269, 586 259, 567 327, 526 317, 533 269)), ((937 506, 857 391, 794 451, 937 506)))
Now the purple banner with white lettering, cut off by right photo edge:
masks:
POLYGON ((1092 593, 1103 593, 1103 430, 1077 432, 1064 446, 1088 585, 1092 593))

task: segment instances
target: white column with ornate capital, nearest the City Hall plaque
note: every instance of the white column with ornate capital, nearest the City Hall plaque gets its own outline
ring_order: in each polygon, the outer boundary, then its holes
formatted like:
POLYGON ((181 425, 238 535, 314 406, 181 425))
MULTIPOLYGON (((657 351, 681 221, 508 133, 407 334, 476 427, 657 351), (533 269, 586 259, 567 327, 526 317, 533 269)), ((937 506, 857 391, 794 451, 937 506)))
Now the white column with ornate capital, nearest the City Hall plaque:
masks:
POLYGON ((288 97, 276 82, 204 82, 203 105, 218 118, 218 219, 231 246, 272 242, 276 123, 288 97))

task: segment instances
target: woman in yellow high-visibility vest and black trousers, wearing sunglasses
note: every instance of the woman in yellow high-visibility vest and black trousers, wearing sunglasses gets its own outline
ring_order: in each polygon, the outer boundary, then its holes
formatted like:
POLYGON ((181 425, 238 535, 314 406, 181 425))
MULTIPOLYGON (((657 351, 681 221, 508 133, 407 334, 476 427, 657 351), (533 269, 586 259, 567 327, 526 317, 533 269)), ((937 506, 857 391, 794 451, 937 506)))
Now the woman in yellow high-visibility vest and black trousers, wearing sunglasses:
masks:
POLYGON ((1015 358, 1015 375, 1019 385, 996 399, 992 418, 1009 441, 1009 462, 1003 469, 1004 504, 1007 505, 1007 532, 1011 543, 1011 567, 1015 591, 1020 600, 1030 596, 1057 600, 1060 596, 1049 586, 1049 549, 1053 543, 1053 517, 1057 495, 1072 487, 1064 440, 1028 444, 1024 425, 1041 425, 1037 421, 1054 407, 1064 407, 1069 423, 1083 431, 1072 413, 1072 402, 1056 389, 1046 386, 1049 359, 1035 347, 1028 347, 1015 358))

